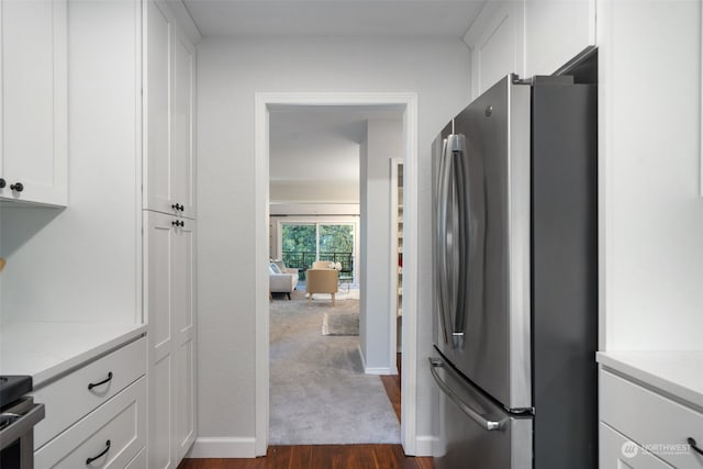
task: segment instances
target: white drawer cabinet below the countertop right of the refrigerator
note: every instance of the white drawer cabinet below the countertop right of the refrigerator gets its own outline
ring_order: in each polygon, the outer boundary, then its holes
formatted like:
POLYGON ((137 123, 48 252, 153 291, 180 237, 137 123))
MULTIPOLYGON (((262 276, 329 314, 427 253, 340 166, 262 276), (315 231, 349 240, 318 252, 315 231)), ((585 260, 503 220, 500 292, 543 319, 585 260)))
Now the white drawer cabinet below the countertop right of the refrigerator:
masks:
POLYGON ((703 469, 703 413, 640 386, 600 371, 601 469, 703 469))

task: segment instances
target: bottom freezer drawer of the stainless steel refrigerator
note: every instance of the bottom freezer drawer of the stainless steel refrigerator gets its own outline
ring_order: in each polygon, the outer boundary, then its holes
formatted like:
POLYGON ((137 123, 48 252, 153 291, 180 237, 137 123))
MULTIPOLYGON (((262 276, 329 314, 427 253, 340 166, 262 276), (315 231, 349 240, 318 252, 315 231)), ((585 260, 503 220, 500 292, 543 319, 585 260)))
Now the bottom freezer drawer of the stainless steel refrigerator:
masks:
POLYGON ((431 371, 443 391, 436 469, 532 468, 533 417, 516 417, 490 402, 442 359, 431 371))

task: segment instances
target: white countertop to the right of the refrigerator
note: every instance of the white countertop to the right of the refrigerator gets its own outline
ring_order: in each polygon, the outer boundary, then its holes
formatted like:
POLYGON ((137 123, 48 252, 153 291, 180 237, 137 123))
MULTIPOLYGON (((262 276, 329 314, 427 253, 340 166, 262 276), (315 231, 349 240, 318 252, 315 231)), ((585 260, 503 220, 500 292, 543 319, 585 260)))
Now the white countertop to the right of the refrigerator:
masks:
POLYGON ((595 360, 703 411, 703 351, 598 351, 595 360))

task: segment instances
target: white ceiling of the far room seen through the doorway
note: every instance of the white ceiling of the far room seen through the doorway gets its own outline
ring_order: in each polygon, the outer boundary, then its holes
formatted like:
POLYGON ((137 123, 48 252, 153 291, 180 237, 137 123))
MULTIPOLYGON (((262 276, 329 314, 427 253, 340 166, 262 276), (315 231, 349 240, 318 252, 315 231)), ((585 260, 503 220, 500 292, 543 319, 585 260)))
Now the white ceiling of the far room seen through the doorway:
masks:
POLYGON ((370 118, 402 119, 400 107, 290 105, 271 110, 271 182, 320 183, 359 180, 359 144, 370 118))

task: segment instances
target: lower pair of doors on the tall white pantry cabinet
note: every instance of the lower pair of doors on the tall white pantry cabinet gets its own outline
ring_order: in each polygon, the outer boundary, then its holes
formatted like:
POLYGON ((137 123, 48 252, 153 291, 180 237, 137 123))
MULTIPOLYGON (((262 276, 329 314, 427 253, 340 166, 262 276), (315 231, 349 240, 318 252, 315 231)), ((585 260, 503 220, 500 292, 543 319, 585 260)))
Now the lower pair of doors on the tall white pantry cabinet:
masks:
POLYGON ((175 469, 196 438, 193 220, 145 212, 148 467, 175 469))

